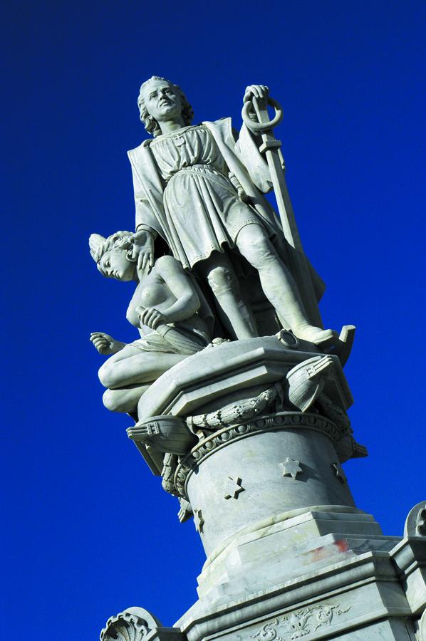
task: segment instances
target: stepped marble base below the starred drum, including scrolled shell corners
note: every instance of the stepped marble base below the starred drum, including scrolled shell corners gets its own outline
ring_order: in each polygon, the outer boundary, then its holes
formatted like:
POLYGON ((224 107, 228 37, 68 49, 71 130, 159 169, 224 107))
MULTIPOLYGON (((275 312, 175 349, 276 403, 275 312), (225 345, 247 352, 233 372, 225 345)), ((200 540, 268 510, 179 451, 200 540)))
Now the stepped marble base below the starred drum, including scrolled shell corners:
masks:
POLYGON ((174 627, 129 608, 100 638, 426 641, 425 515, 425 502, 410 511, 403 538, 348 506, 264 519, 207 558, 174 627))

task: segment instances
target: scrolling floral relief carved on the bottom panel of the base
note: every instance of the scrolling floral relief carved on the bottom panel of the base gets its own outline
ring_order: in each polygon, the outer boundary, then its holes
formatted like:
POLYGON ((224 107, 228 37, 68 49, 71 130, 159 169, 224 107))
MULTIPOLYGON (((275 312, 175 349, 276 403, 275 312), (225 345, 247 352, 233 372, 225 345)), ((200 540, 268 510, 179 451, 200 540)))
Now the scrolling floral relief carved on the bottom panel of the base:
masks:
POLYGON ((311 635, 320 627, 331 625, 333 617, 345 614, 350 608, 351 606, 342 610, 340 605, 328 604, 303 608, 266 623, 251 638, 256 641, 295 641, 311 635))

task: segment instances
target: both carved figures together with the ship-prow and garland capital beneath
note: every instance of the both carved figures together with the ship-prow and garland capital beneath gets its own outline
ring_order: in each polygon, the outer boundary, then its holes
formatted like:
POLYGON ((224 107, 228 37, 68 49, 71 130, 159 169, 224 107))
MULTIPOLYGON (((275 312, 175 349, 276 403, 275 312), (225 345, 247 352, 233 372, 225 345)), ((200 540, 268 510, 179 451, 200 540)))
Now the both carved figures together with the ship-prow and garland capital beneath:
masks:
POLYGON ((126 316, 140 338, 90 335, 110 356, 103 403, 135 419, 128 436, 163 480, 212 429, 271 410, 320 412, 338 426, 342 459, 364 452, 350 437, 342 371, 355 328, 338 338, 321 327, 323 283, 301 249, 266 103, 279 113, 264 85, 246 89, 237 137, 229 118, 191 125, 169 80, 143 83, 140 118, 154 137, 128 152, 135 232, 90 236, 100 273, 137 283, 126 316), (263 196, 272 186, 282 226, 263 196), (279 319, 263 336, 259 300, 279 319))

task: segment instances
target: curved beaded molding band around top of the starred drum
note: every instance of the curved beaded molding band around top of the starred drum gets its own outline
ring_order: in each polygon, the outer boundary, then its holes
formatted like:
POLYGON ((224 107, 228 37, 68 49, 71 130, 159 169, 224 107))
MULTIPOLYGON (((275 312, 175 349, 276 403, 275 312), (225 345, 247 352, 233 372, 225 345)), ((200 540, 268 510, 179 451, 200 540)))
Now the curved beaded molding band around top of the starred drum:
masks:
POLYGON ((177 492, 185 499, 188 499, 186 492, 187 479, 192 471, 196 470, 200 463, 209 457, 217 449, 227 447, 230 442, 244 439, 252 434, 260 432, 279 432, 285 429, 314 429, 317 432, 326 434, 333 444, 338 443, 341 438, 341 432, 336 424, 318 414, 302 412, 276 412, 275 414, 265 415, 258 419, 238 425, 231 425, 220 429, 212 436, 207 437, 199 442, 180 461, 175 471, 175 488, 177 492))

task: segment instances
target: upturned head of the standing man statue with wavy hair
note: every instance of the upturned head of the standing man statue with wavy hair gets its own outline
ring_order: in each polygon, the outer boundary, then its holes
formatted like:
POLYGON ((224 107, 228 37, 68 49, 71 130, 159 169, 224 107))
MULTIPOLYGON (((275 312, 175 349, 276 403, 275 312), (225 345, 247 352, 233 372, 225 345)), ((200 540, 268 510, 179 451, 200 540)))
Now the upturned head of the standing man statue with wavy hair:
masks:
POLYGON ((190 125, 194 118, 182 89, 159 75, 153 75, 141 85, 137 106, 140 120, 154 137, 161 134, 161 120, 182 120, 185 126, 190 125))

